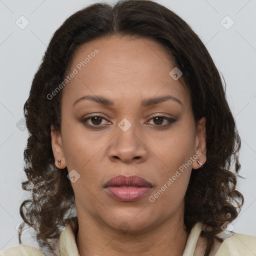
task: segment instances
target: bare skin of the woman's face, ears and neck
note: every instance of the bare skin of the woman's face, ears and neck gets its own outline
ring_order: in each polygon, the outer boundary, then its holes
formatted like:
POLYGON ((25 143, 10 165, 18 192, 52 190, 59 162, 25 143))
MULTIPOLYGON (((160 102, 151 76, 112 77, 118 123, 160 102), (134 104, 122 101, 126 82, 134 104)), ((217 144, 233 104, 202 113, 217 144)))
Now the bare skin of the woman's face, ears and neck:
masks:
POLYGON ((51 126, 56 167, 67 166, 68 172, 75 169, 80 175, 71 182, 79 254, 169 256, 171 251, 172 256, 182 255, 188 236, 183 224, 184 195, 191 169, 200 165, 192 161, 154 202, 149 196, 196 152, 201 163, 206 161, 205 118, 195 122, 189 90, 182 76, 174 80, 169 75, 175 63, 160 44, 117 35, 96 39, 78 48, 69 70, 95 48, 99 52, 63 88, 61 131, 51 126), (72 105, 85 95, 104 96, 114 105, 88 99, 72 105), (142 99, 164 95, 182 104, 166 100, 140 107, 142 99), (175 121, 164 127, 167 120, 152 118, 157 113, 175 121), (86 126, 81 119, 90 114, 103 119, 88 119, 86 126), (131 123, 126 131, 118 126, 123 118, 131 123), (120 174, 141 176, 153 188, 136 201, 118 201, 103 186, 120 174), (120 230, 124 221, 127 232, 120 230))

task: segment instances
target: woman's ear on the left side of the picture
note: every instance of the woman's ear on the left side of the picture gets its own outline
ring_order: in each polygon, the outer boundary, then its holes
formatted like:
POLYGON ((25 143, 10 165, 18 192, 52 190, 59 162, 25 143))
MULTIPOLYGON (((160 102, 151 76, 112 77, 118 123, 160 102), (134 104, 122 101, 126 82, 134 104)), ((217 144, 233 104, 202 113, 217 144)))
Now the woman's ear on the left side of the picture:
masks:
POLYGON ((65 157, 62 148, 62 139, 59 131, 55 131, 53 125, 50 125, 50 137, 51 137, 51 148, 55 159, 55 165, 59 169, 63 169, 66 167, 65 157), (58 160, 60 161, 60 165, 58 164, 58 160))

